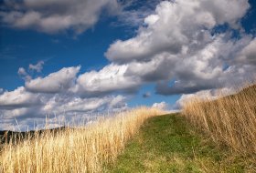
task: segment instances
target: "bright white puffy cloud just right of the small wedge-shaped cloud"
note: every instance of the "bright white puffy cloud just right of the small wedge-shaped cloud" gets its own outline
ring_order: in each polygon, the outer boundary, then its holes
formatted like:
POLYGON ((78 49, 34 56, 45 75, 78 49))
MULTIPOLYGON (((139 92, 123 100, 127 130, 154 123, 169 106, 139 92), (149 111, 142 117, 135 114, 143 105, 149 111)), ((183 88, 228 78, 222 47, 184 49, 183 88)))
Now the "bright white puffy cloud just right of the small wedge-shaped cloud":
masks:
POLYGON ((136 76, 126 76, 127 67, 110 64, 100 71, 81 74, 71 91, 84 97, 101 96, 119 90, 133 92, 141 85, 141 81, 136 76))

